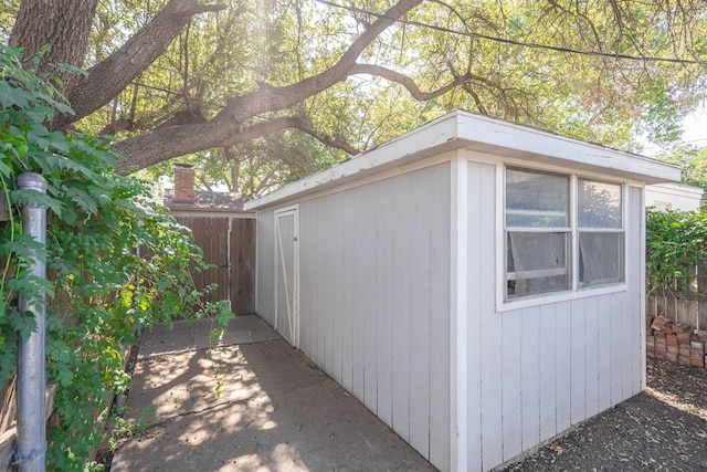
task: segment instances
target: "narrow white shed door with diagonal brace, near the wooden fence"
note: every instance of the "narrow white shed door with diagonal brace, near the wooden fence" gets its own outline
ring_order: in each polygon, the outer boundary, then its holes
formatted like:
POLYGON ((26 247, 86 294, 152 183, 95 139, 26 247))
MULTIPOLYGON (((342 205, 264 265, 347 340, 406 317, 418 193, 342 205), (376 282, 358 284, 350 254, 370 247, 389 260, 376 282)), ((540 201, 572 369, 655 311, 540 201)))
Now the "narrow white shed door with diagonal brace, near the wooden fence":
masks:
POLYGON ((275 328, 299 344, 299 251, 297 209, 275 213, 275 328))

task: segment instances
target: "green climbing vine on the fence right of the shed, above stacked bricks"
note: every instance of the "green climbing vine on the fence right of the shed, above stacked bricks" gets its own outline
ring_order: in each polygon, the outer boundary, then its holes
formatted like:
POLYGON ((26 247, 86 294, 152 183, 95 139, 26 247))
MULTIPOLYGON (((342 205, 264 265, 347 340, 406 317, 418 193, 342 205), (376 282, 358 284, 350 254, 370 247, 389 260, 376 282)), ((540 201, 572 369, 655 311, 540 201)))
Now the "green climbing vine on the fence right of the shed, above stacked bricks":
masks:
POLYGON ((647 293, 689 292, 707 270, 707 213, 648 209, 646 247, 647 293))

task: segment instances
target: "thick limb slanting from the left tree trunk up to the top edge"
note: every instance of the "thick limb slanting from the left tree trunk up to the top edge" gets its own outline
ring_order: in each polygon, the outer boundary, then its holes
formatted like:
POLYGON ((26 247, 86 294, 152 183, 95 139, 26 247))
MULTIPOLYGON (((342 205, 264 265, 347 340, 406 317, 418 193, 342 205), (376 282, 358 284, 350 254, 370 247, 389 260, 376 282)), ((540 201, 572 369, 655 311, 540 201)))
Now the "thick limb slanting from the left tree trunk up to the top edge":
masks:
POLYGON ((110 102, 167 51, 191 17, 223 9, 225 6, 221 4, 200 6, 197 0, 171 0, 145 28, 89 69, 88 76, 67 92, 76 115, 60 115, 52 128, 65 128, 110 102))

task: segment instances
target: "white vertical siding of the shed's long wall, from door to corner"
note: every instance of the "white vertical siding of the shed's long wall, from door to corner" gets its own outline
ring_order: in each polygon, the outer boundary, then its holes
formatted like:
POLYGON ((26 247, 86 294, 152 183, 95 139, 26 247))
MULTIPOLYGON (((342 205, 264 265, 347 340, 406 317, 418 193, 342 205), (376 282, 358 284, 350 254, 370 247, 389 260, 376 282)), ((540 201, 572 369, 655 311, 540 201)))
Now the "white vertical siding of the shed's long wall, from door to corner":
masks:
POLYGON ((450 459, 449 164, 299 202, 300 349, 450 459))

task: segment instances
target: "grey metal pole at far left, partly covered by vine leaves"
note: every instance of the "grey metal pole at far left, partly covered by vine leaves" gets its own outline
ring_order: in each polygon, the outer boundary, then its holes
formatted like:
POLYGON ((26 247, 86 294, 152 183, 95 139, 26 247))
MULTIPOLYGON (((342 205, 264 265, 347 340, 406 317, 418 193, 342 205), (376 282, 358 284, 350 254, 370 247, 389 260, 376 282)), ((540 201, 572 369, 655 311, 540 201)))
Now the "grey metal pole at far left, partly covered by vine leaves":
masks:
MULTIPOLYGON (((46 193, 46 180, 39 174, 23 174, 18 187, 46 193)), ((22 207, 22 231, 44 244, 46 242, 46 208, 24 203, 22 207)), ((32 273, 46 277, 45 261, 32 261, 32 273)), ((46 426, 44 396, 46 373, 44 365, 44 340, 46 301, 20 300, 20 312, 31 312, 36 321, 36 331, 18 348, 18 449, 15 463, 20 472, 44 472, 46 455, 46 426)))

